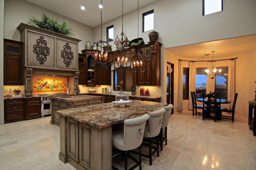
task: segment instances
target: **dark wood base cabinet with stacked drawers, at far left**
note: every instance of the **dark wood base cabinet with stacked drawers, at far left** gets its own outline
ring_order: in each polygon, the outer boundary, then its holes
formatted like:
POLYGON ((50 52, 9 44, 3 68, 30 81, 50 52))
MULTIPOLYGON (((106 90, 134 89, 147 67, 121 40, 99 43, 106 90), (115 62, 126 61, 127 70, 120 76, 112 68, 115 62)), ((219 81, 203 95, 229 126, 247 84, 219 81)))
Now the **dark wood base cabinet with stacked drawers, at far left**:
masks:
POLYGON ((24 99, 8 99, 8 100, 4 100, 4 103, 5 103, 5 108, 4 108, 5 124, 25 120, 24 99))

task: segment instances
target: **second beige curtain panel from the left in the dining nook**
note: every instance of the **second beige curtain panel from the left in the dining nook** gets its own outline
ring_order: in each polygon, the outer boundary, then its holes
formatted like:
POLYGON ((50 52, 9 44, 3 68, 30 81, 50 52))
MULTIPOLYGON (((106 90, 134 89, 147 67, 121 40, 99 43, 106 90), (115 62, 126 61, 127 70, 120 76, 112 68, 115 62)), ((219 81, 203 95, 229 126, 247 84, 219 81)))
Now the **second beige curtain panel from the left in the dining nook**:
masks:
POLYGON ((189 110, 193 109, 190 91, 195 91, 195 76, 196 76, 195 62, 190 62, 189 63, 189 110))

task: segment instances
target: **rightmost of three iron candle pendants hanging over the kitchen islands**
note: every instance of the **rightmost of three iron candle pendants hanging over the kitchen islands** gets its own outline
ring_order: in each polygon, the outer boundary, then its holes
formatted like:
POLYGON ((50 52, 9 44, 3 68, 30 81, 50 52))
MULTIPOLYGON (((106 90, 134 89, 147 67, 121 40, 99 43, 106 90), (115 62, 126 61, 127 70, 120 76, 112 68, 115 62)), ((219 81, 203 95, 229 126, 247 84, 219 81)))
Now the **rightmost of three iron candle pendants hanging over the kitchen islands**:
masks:
MULTIPOLYGON (((138 0, 138 33, 137 33, 137 41, 139 42, 139 0, 138 0)), ((132 56, 133 68, 131 69, 133 73, 136 72, 144 72, 145 68, 143 67, 143 63, 145 64, 145 56, 140 55, 139 53, 139 43, 137 42, 137 53, 132 56)))

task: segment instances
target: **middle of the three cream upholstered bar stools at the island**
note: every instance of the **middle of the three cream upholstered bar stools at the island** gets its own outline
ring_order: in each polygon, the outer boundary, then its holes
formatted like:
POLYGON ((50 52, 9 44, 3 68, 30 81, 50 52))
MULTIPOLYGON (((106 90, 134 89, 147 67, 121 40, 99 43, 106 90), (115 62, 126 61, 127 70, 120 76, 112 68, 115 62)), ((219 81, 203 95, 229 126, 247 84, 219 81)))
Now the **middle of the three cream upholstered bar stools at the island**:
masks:
MULTIPOLYGON (((144 138, 148 138, 148 147, 149 147, 149 155, 141 154, 143 157, 149 158, 149 164, 152 165, 152 155, 154 155, 157 152, 157 156, 159 157, 159 133, 160 129, 163 124, 163 114, 165 112, 164 108, 161 108, 155 112, 151 112, 149 114, 149 120, 148 123, 146 123, 145 132, 144 132, 144 138), (157 144, 156 148, 152 147, 152 138, 157 137, 157 144), (154 151, 152 152, 152 148, 154 151)), ((143 143, 144 145, 144 143, 143 143)), ((134 151, 131 151, 132 153, 136 153, 134 151)), ((137 154, 137 153, 136 153, 137 154)))

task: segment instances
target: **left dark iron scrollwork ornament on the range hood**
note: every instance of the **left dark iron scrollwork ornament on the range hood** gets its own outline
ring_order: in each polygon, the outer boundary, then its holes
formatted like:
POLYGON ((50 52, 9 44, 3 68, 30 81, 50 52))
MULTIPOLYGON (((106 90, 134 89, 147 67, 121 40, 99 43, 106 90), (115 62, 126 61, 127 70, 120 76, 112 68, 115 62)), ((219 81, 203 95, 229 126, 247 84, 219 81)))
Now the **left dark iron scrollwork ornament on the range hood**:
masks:
POLYGON ((33 46, 33 52, 36 54, 36 59, 40 64, 44 64, 47 60, 47 56, 50 54, 50 48, 47 47, 47 41, 44 40, 43 36, 36 40, 36 44, 33 46))

